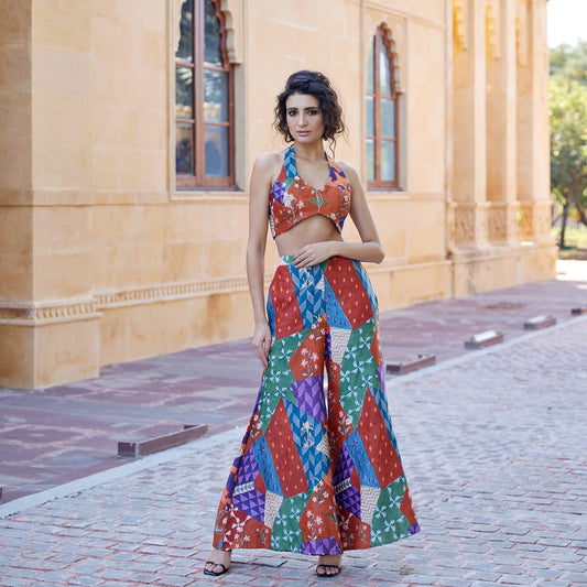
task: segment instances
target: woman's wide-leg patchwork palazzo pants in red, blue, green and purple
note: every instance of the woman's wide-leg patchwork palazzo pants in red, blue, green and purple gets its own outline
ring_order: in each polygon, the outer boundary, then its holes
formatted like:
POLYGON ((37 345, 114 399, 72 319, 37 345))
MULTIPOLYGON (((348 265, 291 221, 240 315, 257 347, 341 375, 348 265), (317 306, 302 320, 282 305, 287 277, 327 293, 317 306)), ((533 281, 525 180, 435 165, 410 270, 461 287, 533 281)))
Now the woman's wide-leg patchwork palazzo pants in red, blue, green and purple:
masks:
POLYGON ((339 554, 414 534, 369 278, 343 257, 292 262, 282 258, 270 286, 269 367, 214 546, 339 554))

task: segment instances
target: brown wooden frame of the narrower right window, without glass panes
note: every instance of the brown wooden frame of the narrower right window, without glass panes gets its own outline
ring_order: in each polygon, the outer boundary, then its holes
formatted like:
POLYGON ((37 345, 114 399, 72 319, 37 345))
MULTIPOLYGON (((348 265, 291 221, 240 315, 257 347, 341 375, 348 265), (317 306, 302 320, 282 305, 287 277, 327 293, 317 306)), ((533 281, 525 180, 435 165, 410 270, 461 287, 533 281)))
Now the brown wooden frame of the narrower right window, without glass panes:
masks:
MULTIPOLYGON (((395 89, 395 79, 394 79, 394 58, 391 51, 390 41, 387 35, 387 31, 383 25, 379 25, 376 29, 376 32, 371 40, 371 47, 373 51, 373 64, 372 64, 372 76, 373 76, 373 93, 366 91, 366 98, 373 98, 373 130, 374 135, 367 134, 366 130, 366 144, 368 140, 373 141, 373 157, 374 157, 374 180, 367 181, 368 189, 400 189, 400 144, 399 144, 399 118, 400 118, 400 105, 399 105, 399 94, 395 89), (384 47, 388 59, 389 59, 389 75, 391 84, 391 98, 382 97, 381 93, 381 79, 380 79, 380 53, 381 48, 384 47), (393 101, 393 139, 384 139, 381 132, 381 101, 390 100, 393 101), (394 144, 394 171, 395 178, 393 181, 383 181, 381 180, 381 145, 382 143, 393 143, 394 144)), ((370 50, 371 51, 371 50, 370 50)), ((369 73, 368 73, 369 75, 369 73)), ((367 100, 366 100, 367 105, 367 100)), ((368 174, 366 175, 368 177, 368 174)))

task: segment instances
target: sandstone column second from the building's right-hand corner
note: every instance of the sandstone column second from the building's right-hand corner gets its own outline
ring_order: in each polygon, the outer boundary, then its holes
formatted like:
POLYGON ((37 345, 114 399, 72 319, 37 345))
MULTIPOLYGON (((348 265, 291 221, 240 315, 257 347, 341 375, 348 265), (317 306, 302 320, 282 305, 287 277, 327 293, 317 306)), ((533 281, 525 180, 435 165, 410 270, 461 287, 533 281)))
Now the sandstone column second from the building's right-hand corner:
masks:
POLYGON ((486 20, 488 233, 490 242, 494 244, 518 242, 517 2, 518 0, 490 0, 486 20))

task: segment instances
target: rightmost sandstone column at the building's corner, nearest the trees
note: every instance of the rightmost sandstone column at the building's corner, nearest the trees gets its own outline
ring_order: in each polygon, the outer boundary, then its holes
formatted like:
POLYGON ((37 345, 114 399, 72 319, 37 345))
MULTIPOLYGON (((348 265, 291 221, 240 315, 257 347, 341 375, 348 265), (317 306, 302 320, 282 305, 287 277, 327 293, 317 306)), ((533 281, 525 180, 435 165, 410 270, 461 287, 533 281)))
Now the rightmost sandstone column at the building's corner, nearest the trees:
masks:
POLYGON ((546 1, 520 2, 518 39, 518 199, 523 241, 552 242, 546 1))

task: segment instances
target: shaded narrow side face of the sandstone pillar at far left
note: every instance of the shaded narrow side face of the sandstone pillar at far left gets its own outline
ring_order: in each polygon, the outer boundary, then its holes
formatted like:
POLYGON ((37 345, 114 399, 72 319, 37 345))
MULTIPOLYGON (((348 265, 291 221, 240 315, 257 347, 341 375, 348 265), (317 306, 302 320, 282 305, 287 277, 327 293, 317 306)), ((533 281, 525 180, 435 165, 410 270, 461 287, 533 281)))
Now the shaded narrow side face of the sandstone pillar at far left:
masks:
POLYGON ((0 385, 33 363, 32 329, 17 319, 33 298, 31 0, 0 6, 0 385))

